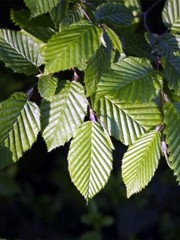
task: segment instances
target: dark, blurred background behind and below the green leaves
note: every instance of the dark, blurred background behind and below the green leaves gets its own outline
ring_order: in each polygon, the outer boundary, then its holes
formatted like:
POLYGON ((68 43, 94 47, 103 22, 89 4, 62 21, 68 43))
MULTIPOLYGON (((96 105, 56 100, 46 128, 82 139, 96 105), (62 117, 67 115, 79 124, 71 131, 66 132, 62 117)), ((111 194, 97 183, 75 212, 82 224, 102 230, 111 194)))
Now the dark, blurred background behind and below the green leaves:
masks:
MULTIPOLYGON (((143 11, 155 1, 143 0, 143 11)), ((14 29, 11 8, 21 0, 0 0, 0 27, 14 29)), ((148 15, 152 32, 163 33, 164 1, 148 15)), ((0 100, 27 91, 33 77, 14 74, 0 63, 0 100)), ((88 206, 71 183, 69 145, 47 154, 41 137, 24 157, 0 173, 0 238, 62 240, 176 240, 180 235, 180 189, 164 159, 149 186, 126 198, 121 159, 126 147, 114 141, 114 170, 88 206)), ((0 156, 2 158, 3 156, 0 156)))

